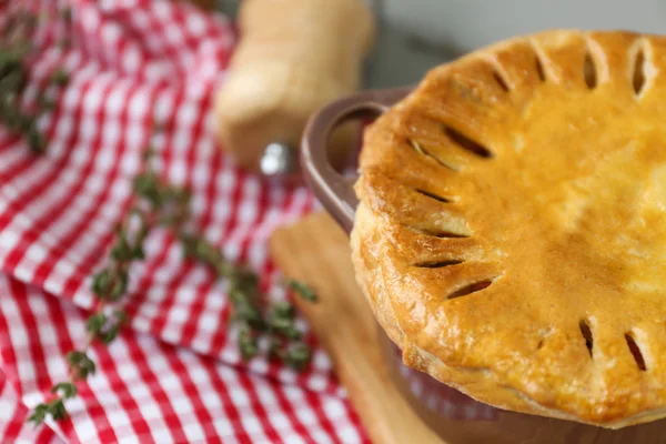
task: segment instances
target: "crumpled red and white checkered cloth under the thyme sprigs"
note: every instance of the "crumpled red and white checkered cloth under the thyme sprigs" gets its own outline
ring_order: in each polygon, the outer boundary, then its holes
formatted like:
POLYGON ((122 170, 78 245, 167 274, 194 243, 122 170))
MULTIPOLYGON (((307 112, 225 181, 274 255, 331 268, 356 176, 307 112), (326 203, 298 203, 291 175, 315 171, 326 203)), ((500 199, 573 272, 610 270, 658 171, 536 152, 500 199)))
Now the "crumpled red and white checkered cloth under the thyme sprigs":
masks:
POLYGON ((24 425, 85 341, 90 276, 130 204, 153 115, 165 122, 160 170, 192 190, 200 232, 259 271, 274 300, 287 295, 266 238, 314 203, 302 188, 239 171, 215 145, 212 92, 234 43, 222 17, 158 0, 72 7, 72 48, 58 47, 56 21, 40 31, 46 50, 26 94, 33 100, 56 65, 71 73, 40 122, 47 153, 0 129, 0 442, 367 442, 320 349, 304 374, 241 361, 221 285, 183 261, 167 231, 151 234, 147 260, 131 269, 131 327, 92 347, 98 372, 68 402, 70 416, 24 425))

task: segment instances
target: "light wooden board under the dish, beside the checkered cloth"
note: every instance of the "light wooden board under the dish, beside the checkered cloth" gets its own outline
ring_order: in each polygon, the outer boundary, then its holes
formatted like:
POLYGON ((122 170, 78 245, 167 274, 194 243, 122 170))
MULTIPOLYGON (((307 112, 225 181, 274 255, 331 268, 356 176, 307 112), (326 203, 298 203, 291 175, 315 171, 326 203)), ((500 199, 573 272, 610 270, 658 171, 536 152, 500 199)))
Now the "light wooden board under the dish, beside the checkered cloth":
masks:
POLYGON ((278 229, 271 254, 290 278, 316 289, 320 302, 296 299, 374 443, 443 441, 416 416, 390 380, 375 320, 354 280, 346 234, 326 214, 278 229))

